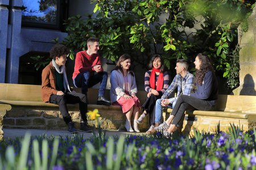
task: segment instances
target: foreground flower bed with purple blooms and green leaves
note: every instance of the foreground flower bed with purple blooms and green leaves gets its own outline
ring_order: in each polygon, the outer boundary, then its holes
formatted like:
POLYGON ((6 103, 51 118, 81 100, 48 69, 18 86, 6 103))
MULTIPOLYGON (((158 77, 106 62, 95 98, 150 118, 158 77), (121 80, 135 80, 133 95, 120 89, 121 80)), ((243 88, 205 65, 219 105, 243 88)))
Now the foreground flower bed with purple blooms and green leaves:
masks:
POLYGON ((0 143, 0 169, 255 169, 255 131, 195 137, 30 137, 0 143))

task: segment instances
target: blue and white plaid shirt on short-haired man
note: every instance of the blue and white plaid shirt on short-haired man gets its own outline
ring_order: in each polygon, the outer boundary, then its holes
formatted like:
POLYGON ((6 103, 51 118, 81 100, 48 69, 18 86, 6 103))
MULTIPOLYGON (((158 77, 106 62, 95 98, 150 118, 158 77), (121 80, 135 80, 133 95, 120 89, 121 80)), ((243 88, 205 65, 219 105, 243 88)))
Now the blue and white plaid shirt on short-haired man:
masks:
POLYGON ((180 95, 189 95, 191 94, 193 87, 195 86, 195 76, 189 72, 184 76, 184 78, 177 74, 172 80, 172 83, 167 88, 166 92, 164 92, 161 99, 168 99, 172 92, 177 88, 177 95, 176 97, 172 97, 169 99, 170 103, 174 103, 177 100, 177 97, 180 95))

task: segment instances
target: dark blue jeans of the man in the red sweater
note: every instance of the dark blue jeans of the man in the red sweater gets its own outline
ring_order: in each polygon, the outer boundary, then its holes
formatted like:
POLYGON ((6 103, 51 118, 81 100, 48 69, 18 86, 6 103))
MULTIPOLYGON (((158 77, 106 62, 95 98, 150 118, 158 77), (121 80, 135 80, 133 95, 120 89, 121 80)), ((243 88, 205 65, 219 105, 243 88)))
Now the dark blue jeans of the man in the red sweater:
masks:
POLYGON ((85 71, 80 73, 73 79, 73 83, 76 87, 82 88, 82 94, 87 94, 88 88, 100 83, 100 90, 98 90, 98 96, 104 96, 106 89, 106 83, 108 81, 108 73, 106 71, 97 73, 95 71, 85 71))

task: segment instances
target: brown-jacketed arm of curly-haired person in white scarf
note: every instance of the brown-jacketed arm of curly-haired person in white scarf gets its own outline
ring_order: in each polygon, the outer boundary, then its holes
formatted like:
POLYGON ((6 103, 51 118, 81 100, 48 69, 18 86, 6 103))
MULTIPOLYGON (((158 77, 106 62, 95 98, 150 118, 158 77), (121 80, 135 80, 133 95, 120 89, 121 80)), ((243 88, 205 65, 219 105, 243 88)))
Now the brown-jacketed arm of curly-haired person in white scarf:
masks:
POLYGON ((56 95, 58 91, 51 87, 50 82, 54 81, 54 79, 50 80, 49 74, 49 69, 44 69, 42 71, 42 91, 44 94, 56 95))

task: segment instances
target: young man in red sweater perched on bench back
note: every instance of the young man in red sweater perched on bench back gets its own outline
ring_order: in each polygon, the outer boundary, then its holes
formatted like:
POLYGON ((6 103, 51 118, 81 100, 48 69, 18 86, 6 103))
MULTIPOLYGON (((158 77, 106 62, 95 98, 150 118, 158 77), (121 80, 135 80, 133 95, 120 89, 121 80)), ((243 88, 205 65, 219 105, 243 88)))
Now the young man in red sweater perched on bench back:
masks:
POLYGON ((108 73, 101 66, 98 41, 99 39, 90 37, 87 40, 88 49, 76 54, 73 83, 76 87, 81 87, 82 94, 85 95, 89 87, 100 83, 97 104, 111 105, 111 101, 104 97, 108 73))

